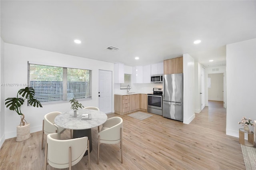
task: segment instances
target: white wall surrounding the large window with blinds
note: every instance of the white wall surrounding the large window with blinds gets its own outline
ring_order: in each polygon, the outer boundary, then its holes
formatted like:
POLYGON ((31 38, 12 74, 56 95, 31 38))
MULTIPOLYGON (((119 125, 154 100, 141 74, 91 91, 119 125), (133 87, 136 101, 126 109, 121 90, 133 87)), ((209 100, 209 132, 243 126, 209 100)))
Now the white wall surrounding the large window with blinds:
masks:
MULTIPOLYGON (((72 55, 54 53, 40 49, 24 47, 4 43, 4 83, 27 83, 27 62, 34 61, 40 63, 56 64, 66 67, 75 67, 92 70, 92 100, 81 101, 84 106, 98 106, 98 70, 108 70, 114 73, 114 64, 93 59, 86 59, 72 55)), ((113 76, 113 75, 112 75, 113 76)), ((1 76, 2 77, 2 76, 1 76)), ((114 84, 113 86, 114 87, 114 84)), ((17 95, 18 87, 5 87, 4 98, 17 95)), ((112 111, 114 111, 114 88, 112 88, 112 111)), ((2 104, 2 103, 1 103, 2 104)), ((70 110, 70 103, 43 105, 43 108, 34 108, 31 106, 22 106, 22 113, 25 119, 30 123, 30 132, 42 130, 42 120, 46 113, 52 111, 65 112, 70 110)), ((1 111, 2 113, 2 111, 1 111)), ((16 136, 16 126, 20 123, 20 117, 15 111, 5 108, 5 138, 16 136)))

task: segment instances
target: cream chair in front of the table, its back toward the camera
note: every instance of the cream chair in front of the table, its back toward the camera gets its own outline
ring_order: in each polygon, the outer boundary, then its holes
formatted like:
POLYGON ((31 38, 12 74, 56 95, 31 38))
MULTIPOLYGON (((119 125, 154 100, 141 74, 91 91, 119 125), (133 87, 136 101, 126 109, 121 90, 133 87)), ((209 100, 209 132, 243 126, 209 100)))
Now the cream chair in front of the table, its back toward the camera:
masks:
POLYGON ((47 165, 54 168, 69 168, 77 164, 88 150, 88 169, 90 169, 90 144, 88 137, 60 140, 58 133, 47 135, 44 170, 47 165))

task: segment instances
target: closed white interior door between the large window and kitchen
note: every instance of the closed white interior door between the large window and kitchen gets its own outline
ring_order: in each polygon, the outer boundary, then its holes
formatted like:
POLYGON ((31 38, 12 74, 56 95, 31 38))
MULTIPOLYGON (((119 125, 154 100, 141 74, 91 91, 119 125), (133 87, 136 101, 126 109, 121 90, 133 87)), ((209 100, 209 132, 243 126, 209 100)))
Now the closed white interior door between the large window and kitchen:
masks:
POLYGON ((99 109, 112 113, 112 71, 99 70, 99 109))

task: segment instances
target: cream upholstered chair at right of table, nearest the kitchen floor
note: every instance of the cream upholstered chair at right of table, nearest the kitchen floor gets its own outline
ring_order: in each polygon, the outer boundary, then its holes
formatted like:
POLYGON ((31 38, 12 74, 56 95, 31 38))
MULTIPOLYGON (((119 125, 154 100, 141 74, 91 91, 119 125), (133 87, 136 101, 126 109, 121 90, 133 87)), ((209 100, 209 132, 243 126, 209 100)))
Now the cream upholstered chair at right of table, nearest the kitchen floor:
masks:
POLYGON ((121 163, 123 163, 123 141, 122 141, 123 119, 120 117, 109 118, 98 133, 98 157, 99 164, 100 143, 116 144, 120 142, 121 163))

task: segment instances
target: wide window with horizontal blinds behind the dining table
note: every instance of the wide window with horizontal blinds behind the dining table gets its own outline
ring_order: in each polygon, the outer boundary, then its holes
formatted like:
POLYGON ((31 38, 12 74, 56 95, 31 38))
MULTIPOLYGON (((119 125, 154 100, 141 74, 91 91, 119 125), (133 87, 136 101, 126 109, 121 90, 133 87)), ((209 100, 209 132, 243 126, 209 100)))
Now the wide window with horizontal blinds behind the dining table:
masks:
POLYGON ((92 70, 29 63, 28 84, 41 103, 92 99, 92 70))

